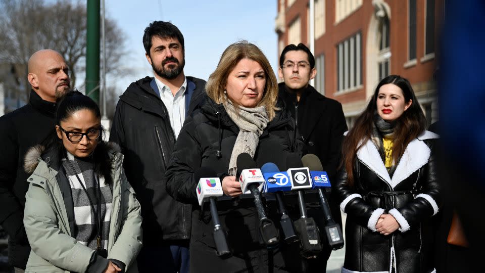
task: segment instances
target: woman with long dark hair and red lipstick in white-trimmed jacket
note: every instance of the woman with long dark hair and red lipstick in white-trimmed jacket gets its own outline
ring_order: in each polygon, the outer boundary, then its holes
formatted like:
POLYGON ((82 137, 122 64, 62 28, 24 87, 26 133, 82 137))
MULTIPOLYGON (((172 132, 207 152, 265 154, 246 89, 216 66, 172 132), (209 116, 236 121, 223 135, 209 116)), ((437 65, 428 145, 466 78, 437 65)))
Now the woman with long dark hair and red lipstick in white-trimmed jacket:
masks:
POLYGON ((343 143, 336 188, 347 213, 342 272, 434 272, 441 204, 433 140, 409 81, 382 79, 343 143))

